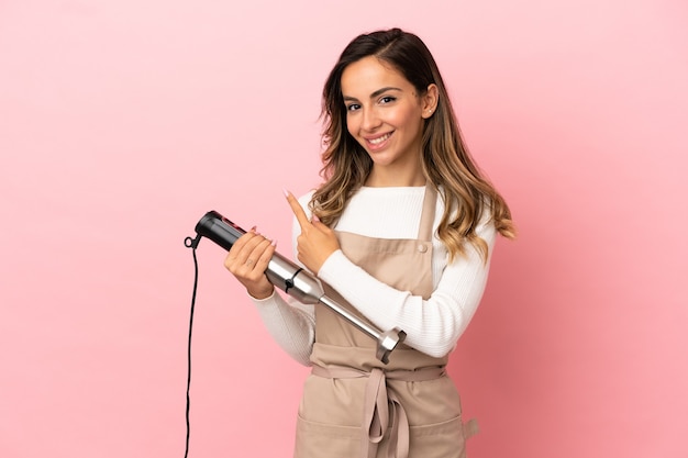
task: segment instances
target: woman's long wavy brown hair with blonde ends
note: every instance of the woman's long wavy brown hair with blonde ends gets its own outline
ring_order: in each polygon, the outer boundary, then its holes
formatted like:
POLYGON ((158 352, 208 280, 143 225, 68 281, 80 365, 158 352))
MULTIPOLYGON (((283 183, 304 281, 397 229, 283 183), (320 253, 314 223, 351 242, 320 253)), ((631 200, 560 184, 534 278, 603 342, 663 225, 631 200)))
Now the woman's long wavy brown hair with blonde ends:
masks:
POLYGON ((409 80, 419 94, 434 83, 439 89, 435 113, 425 121, 422 135, 422 168, 426 180, 444 199, 437 236, 450 259, 465 254, 465 242, 487 259, 488 246, 476 234, 484 212, 489 211, 497 231, 515 237, 511 212, 502 197, 470 157, 458 129, 452 102, 437 65, 425 44, 400 29, 363 34, 354 38, 330 72, 322 96, 324 183, 314 192, 310 208, 329 226, 342 215, 348 199, 365 182, 373 168, 366 150, 348 134, 341 79, 344 69, 364 57, 375 56, 409 80))

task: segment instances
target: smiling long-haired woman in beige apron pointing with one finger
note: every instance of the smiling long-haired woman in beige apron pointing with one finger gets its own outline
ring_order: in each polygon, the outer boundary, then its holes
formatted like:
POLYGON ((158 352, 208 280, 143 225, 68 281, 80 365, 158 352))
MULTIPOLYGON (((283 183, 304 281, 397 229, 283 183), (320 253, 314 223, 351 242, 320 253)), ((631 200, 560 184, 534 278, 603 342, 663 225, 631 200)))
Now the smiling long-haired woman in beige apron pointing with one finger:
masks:
POLYGON ((445 373, 475 313, 509 208, 464 147, 437 66, 398 29, 356 37, 323 90, 323 185, 297 199, 299 261, 328 294, 381 329, 407 333, 389 364, 329 309, 288 304, 264 275, 274 243, 255 230, 226 268, 276 340, 313 367, 295 456, 465 457, 471 432, 445 373))

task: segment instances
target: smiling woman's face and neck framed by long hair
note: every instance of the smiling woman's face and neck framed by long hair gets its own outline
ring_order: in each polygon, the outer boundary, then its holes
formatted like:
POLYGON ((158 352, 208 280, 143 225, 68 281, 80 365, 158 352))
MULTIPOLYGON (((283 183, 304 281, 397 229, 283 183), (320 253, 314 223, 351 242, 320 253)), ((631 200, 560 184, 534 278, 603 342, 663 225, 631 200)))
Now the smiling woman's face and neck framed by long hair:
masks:
POLYGON ((342 94, 348 133, 373 159, 371 179, 385 177, 382 186, 423 185, 421 137, 436 103, 434 85, 421 96, 399 71, 369 56, 344 69, 342 94))

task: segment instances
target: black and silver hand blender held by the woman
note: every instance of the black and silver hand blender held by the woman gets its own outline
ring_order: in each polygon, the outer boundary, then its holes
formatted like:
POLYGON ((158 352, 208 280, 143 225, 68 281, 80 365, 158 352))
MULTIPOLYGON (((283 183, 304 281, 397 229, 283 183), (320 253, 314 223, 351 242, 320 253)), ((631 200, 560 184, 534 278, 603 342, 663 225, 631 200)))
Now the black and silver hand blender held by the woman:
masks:
MULTIPOLYGON (((196 233, 199 236, 210 238, 229 250, 232 248, 232 245, 234 245, 234 242, 245 234, 246 231, 238 227, 220 213, 210 211, 206 213, 196 225, 196 233)), ((198 238, 199 237, 197 237, 196 243, 198 243, 198 238)), ((406 338, 406 333, 397 327, 391 331, 381 332, 363 322, 358 316, 325 295, 322 283, 317 277, 278 253, 273 255, 265 275, 275 287, 285 291, 299 302, 304 304, 315 304, 320 302, 340 314, 365 334, 375 338, 377 340, 376 356, 385 364, 389 361, 391 350, 406 338)))

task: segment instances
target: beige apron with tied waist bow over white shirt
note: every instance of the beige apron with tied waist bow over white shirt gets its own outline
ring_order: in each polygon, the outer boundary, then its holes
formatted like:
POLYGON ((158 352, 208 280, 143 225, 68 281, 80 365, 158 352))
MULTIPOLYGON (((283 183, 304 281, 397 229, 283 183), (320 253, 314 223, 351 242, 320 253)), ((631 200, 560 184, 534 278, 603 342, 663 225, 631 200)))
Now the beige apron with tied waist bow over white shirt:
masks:
MULTIPOLYGON (((392 288, 430 298, 435 204, 436 191, 429 185, 418 239, 337 232, 342 252, 392 288)), ((466 457, 465 440, 477 428, 474 422, 463 424, 458 392, 444 370, 448 355, 434 358, 400 344, 384 365, 375 356, 377 343, 329 308, 315 305, 315 323, 295 458, 466 457)))

